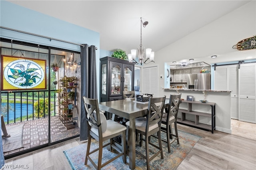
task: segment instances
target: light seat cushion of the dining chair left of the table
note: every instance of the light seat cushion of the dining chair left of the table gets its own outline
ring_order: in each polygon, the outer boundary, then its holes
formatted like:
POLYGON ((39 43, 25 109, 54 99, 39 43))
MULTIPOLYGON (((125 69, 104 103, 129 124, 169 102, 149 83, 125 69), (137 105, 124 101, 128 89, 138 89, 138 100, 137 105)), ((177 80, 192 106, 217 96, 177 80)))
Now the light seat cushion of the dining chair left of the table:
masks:
MULTIPOLYGON (((119 132, 122 132, 122 131, 126 130, 126 127, 124 125, 121 125, 120 123, 117 123, 117 122, 112 121, 112 120, 107 120, 106 125, 107 125, 107 128, 106 128, 105 132, 102 132, 102 137, 110 136, 112 134, 116 134, 116 133, 119 133, 119 132)), ((98 129, 97 128, 92 127, 91 131, 94 134, 98 135, 98 129)))

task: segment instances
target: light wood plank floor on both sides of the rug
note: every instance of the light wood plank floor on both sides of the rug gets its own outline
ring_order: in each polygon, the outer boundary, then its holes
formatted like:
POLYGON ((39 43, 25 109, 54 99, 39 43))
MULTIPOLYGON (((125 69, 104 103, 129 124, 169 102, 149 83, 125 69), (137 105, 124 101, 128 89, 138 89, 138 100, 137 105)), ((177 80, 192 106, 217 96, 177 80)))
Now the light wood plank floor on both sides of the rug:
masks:
MULTIPOLYGON (((194 148, 177 170, 256 170, 256 124, 232 120, 232 129, 236 134, 200 130, 178 124, 178 129, 201 136, 194 148), (239 127, 236 127, 239 124, 239 127), (246 136, 238 132, 239 128, 249 126, 246 136), (237 128, 237 130, 234 130, 237 128), (239 136, 238 136, 239 135, 239 136), (254 139, 249 138, 254 136, 254 139)), ((6 160, 6 164, 28 165, 30 170, 69 170, 70 166, 63 150, 82 144, 79 138, 68 140, 48 148, 6 160)))

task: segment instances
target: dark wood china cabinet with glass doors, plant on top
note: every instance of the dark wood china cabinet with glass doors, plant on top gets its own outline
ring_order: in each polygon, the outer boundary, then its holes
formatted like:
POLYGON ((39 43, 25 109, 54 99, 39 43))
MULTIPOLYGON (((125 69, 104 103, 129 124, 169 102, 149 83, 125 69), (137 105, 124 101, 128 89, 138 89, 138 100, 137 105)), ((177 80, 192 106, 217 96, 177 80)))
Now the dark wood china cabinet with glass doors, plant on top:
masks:
POLYGON ((123 99, 134 90, 134 63, 114 57, 100 58, 100 102, 123 99))

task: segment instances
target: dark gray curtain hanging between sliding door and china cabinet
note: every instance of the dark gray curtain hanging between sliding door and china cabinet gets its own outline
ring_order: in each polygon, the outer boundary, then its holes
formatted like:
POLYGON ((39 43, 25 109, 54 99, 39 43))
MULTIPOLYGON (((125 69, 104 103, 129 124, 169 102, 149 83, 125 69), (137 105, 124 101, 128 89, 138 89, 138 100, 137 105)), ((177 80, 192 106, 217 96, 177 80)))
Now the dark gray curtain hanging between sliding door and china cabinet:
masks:
POLYGON ((85 116, 83 96, 97 99, 97 68, 95 46, 83 44, 81 46, 81 125, 80 125, 80 140, 87 140, 87 123, 85 116))

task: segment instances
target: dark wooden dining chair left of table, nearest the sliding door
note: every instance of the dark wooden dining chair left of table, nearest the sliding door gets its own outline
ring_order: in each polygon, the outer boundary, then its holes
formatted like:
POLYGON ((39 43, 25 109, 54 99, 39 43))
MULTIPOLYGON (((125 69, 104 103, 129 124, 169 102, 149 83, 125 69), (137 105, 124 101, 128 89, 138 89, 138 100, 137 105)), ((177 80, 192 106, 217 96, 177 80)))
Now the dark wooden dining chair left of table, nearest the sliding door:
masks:
POLYGON ((87 165, 87 161, 90 160, 92 165, 96 169, 100 170, 102 167, 106 166, 120 156, 122 156, 123 162, 126 164, 126 127, 115 121, 106 120, 105 115, 103 113, 100 113, 98 99, 89 99, 84 96, 83 99, 84 107, 86 110, 86 122, 88 126, 88 145, 84 165, 87 165), (118 149, 118 146, 115 146, 113 143, 113 138, 119 135, 122 136, 122 150, 118 149), (90 151, 92 138, 98 141, 99 147, 95 150, 90 151), (103 142, 106 140, 108 140, 108 142, 106 144, 103 144, 103 142), (111 158, 110 160, 102 164, 102 149, 108 145, 110 145, 110 151, 113 147, 119 153, 114 158, 111 158), (98 165, 96 165, 90 157, 90 154, 93 154, 96 151, 99 151, 98 165))

